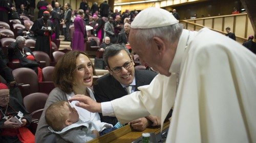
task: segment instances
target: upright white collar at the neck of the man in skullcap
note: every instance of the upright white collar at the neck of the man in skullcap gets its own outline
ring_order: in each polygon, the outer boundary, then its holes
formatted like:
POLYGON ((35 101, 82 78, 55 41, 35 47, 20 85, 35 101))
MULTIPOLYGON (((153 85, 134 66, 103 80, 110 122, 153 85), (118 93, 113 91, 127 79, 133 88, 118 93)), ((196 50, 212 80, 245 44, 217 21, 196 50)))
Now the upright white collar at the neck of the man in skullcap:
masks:
POLYGON ((188 40, 189 40, 189 31, 186 29, 183 29, 180 35, 180 39, 177 45, 177 50, 176 50, 173 62, 169 68, 169 73, 178 73, 178 74, 180 73, 180 65, 186 49, 186 45, 188 44, 188 40))

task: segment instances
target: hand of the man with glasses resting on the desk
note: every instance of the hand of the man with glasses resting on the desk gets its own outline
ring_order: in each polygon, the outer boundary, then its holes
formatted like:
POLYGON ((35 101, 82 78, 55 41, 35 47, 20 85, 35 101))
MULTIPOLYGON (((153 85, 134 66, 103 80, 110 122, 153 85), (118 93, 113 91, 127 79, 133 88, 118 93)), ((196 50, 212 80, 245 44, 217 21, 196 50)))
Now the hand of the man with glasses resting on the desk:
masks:
POLYGON ((145 117, 131 121, 130 124, 133 127, 133 129, 137 131, 144 131, 146 127, 149 125, 145 117))

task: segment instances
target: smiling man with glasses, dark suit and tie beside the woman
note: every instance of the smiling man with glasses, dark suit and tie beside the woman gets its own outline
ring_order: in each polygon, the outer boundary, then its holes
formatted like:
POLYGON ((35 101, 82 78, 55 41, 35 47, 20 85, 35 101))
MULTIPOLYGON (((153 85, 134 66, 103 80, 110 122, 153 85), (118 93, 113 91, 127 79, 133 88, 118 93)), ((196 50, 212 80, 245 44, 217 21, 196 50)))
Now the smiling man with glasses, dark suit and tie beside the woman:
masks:
MULTIPOLYGON (((150 84, 157 75, 150 70, 135 69, 131 54, 121 44, 108 46, 104 51, 103 59, 107 65, 106 69, 110 73, 100 77, 96 85, 93 86, 97 102, 112 101, 137 91, 139 86, 150 84)), ((116 117, 102 116, 101 113, 100 118, 101 122, 113 126, 118 122, 116 117)), ((151 124, 153 126, 160 125, 159 119, 153 115, 139 118, 130 123, 133 129, 139 131, 143 131, 151 124)))

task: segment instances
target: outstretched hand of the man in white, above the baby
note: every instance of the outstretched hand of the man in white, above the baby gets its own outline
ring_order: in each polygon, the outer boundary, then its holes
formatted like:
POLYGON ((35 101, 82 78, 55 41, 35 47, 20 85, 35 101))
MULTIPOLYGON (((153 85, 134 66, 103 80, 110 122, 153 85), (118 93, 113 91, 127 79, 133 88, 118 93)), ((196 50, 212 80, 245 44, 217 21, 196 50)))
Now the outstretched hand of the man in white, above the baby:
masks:
POLYGON ((77 94, 73 98, 69 100, 71 101, 79 101, 79 103, 76 103, 76 106, 81 107, 83 109, 86 109, 90 112, 100 112, 101 113, 101 104, 95 102, 93 99, 91 99, 88 96, 84 96, 81 94, 77 94))

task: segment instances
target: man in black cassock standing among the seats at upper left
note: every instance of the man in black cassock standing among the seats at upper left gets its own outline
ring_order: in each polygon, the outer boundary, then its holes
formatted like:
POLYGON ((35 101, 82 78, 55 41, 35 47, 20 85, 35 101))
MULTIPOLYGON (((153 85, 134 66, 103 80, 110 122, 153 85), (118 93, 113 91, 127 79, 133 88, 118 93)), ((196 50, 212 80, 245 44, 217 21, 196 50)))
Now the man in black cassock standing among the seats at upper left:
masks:
POLYGON ((35 51, 45 52, 51 57, 51 35, 54 33, 54 26, 49 17, 50 13, 44 11, 42 18, 35 20, 30 30, 36 36, 35 51))

